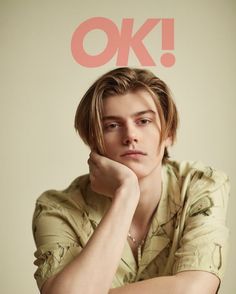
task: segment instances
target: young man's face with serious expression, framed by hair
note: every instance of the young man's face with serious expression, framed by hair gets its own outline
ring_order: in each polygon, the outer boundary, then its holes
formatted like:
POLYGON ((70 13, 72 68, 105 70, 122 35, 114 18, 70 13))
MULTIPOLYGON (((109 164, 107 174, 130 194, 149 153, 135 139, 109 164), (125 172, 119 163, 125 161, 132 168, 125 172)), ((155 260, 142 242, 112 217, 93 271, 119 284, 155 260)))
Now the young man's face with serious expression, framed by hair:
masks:
POLYGON ((134 171, 138 178, 161 169, 166 139, 160 145, 160 119, 145 90, 104 99, 106 156, 134 171))

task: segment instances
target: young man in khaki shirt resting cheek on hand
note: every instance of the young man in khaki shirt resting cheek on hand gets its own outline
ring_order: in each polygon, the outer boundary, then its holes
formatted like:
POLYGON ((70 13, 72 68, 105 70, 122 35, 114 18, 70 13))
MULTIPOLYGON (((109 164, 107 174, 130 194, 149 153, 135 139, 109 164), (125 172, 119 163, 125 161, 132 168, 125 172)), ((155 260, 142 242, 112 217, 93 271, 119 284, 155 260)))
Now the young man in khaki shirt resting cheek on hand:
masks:
POLYGON ((169 159, 177 125, 168 87, 149 71, 117 68, 89 88, 75 117, 89 175, 36 204, 41 293, 216 293, 228 178, 169 159))

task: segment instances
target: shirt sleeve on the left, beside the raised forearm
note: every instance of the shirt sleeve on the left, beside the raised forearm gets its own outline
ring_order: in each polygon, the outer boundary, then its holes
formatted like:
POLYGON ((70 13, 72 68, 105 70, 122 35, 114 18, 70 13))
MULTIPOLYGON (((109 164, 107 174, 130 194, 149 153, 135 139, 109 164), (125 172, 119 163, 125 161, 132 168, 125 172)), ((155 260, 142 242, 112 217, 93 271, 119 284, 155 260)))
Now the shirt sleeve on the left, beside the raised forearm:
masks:
POLYGON ((33 216, 33 235, 37 246, 34 277, 39 289, 59 273, 82 250, 68 216, 58 205, 37 201, 33 216))

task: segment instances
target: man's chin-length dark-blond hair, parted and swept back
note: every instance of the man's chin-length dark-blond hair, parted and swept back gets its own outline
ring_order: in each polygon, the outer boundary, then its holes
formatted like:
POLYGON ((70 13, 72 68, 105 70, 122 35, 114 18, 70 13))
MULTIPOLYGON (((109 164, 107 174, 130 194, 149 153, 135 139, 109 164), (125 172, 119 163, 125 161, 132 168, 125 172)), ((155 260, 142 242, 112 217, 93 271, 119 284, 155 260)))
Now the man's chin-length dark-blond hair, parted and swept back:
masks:
MULTIPOLYGON (((103 139, 103 99, 146 90, 153 97, 161 122, 161 142, 176 139, 178 113, 168 86, 151 71, 122 67, 109 71, 97 79, 82 97, 75 115, 75 129, 86 145, 106 154, 103 139)), ((163 161, 169 154, 165 149, 163 161)))

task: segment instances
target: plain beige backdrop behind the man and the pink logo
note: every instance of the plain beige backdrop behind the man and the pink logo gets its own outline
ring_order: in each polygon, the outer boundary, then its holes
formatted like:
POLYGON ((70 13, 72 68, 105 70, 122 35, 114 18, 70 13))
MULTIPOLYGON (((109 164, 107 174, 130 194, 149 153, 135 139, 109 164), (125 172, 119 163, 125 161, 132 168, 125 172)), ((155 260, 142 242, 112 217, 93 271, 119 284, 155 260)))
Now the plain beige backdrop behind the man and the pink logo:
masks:
MULTIPOLYGON (((236 1, 1 0, 0 5, 1 293, 38 293, 31 234, 36 197, 87 172, 88 149, 73 130, 75 109, 90 83, 115 66, 115 58, 90 69, 72 58, 72 33, 94 16, 118 26, 122 18, 134 18, 136 28, 147 18, 175 18, 177 62, 150 69, 169 84, 180 111, 173 156, 200 159, 231 177, 231 252, 221 293, 235 293, 236 1)), ((94 31, 86 46, 99 51, 105 42, 94 31)), ((145 43, 158 60, 160 31, 153 30, 145 43)), ((129 65, 139 66, 133 54, 129 65)))

